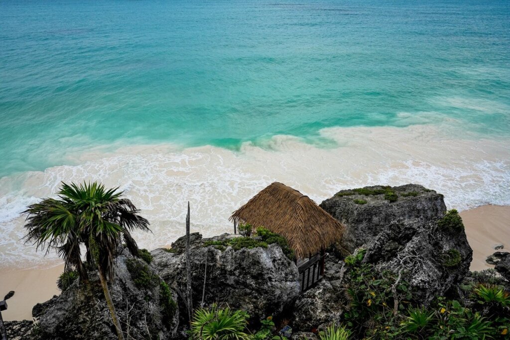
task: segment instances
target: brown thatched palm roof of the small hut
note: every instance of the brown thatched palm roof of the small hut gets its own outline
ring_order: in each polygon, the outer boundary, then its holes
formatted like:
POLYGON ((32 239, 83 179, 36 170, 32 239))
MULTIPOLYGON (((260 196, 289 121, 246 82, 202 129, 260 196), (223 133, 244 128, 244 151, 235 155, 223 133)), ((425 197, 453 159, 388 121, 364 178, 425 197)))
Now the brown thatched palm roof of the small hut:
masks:
POLYGON ((274 182, 236 210, 230 221, 263 226, 287 239, 296 257, 310 257, 342 238, 345 226, 308 196, 274 182))

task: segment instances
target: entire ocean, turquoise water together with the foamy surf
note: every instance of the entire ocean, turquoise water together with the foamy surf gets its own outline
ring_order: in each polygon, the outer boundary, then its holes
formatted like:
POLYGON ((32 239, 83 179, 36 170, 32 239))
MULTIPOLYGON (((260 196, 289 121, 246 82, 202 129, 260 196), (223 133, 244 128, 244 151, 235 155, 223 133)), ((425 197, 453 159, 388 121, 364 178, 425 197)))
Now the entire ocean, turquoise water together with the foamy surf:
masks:
POLYGON ((422 184, 510 204, 508 1, 0 2, 0 258, 60 181, 119 186, 142 247, 228 216, 272 181, 316 202, 422 184))

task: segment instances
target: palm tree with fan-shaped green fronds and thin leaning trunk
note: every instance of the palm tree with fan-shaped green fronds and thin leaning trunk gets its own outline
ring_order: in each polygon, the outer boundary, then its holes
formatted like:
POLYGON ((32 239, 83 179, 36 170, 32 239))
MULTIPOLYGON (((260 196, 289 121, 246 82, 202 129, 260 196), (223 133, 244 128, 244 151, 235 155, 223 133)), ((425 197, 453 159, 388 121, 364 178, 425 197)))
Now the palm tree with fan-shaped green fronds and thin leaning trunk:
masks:
POLYGON ((149 230, 149 222, 138 215, 140 211, 129 199, 121 198, 122 194, 118 188, 106 190, 97 182, 81 185, 62 182, 58 199, 44 198, 24 211, 28 214, 25 243, 33 242, 37 249, 45 249, 46 254, 56 249, 66 268, 75 268, 83 281, 88 276, 80 246, 85 246, 86 263, 97 268, 119 340, 124 335, 107 280, 114 279, 113 260, 119 245, 124 242, 138 256, 131 231, 149 230))

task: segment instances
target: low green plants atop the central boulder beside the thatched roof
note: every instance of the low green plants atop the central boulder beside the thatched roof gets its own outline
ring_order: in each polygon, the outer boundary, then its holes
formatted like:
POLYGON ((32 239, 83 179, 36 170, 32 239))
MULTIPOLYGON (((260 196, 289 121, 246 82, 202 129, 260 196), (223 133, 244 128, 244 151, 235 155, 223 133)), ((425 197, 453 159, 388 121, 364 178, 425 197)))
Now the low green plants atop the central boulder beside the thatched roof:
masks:
POLYGON ((280 248, 282 248, 282 251, 287 257, 290 259, 294 258, 294 251, 289 247, 289 243, 283 236, 271 232, 264 227, 257 228, 256 236, 258 239, 251 237, 240 237, 222 241, 206 241, 203 243, 203 247, 213 246, 214 248, 223 251, 228 246, 231 246, 234 250, 241 250, 243 248, 267 248, 268 245, 276 243, 280 246, 280 248))

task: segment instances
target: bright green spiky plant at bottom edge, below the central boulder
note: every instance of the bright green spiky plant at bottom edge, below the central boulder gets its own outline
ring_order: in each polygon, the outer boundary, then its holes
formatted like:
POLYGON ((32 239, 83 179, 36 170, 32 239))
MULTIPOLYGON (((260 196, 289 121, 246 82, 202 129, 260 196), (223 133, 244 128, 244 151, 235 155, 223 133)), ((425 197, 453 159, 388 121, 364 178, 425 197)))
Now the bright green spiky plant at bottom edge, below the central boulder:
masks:
POLYGON ((248 318, 243 310, 219 308, 213 304, 210 309, 195 311, 190 334, 196 340, 249 340, 251 336, 245 332, 248 318))

